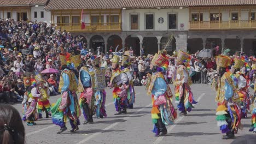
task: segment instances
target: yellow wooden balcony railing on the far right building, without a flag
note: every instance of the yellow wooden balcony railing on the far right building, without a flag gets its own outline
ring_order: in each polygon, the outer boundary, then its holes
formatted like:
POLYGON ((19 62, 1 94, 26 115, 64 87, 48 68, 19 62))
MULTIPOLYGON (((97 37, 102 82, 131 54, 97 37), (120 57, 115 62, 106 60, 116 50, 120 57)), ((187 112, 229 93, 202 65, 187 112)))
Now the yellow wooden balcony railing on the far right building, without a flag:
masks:
POLYGON ((190 21, 189 30, 256 29, 256 20, 247 21, 190 21))

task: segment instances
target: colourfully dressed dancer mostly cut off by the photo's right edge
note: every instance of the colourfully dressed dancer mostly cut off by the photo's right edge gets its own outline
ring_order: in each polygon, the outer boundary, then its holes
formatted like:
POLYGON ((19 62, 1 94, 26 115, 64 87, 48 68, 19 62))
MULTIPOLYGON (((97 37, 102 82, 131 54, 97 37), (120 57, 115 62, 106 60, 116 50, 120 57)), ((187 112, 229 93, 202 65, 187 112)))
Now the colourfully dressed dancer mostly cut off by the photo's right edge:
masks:
POLYGON ((252 98, 252 125, 249 131, 253 131, 253 133, 256 133, 256 81, 254 81, 254 95, 252 98))

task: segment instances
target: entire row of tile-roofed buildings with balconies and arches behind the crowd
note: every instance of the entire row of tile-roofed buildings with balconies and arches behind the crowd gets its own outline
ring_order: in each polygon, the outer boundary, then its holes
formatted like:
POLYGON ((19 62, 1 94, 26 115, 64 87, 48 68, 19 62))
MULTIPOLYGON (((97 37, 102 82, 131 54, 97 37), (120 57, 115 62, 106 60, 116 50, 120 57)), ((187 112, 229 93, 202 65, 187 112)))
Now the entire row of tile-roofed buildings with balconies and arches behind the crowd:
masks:
POLYGON ((256 54, 256 1, 7 0, 0 17, 43 21, 74 33, 90 49, 190 53, 219 46, 256 54))

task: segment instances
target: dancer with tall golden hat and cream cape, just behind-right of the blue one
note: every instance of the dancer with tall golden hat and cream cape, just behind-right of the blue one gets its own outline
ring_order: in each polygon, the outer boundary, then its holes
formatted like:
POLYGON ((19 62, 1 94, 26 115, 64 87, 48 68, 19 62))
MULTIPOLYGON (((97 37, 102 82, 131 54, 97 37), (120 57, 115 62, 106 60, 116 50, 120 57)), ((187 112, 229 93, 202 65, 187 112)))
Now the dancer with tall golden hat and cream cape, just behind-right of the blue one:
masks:
POLYGON ((193 104, 197 102, 194 100, 191 92, 191 77, 189 76, 189 61, 190 55, 183 51, 179 51, 176 59, 177 74, 173 83, 175 86, 175 97, 178 109, 181 111, 180 115, 187 115, 194 108, 193 104))

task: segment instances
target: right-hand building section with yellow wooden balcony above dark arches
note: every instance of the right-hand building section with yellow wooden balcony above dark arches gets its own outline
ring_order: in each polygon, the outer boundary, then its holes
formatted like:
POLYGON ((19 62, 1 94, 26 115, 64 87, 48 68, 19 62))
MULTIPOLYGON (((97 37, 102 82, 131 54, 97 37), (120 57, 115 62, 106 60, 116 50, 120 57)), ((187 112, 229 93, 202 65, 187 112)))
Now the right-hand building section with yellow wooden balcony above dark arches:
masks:
POLYGON ((189 7, 188 51, 219 46, 256 53, 256 1, 199 1, 189 7))

